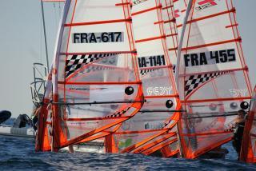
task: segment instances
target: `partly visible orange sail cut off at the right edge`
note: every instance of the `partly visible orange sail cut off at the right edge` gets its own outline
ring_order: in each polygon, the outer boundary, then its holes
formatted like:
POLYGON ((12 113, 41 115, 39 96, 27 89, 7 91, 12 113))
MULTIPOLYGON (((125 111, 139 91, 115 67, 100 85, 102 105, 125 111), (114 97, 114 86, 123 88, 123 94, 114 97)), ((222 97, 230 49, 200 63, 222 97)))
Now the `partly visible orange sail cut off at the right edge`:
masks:
POLYGON ((246 116, 246 125, 242 137, 240 160, 250 163, 256 162, 256 86, 250 101, 250 111, 246 116))

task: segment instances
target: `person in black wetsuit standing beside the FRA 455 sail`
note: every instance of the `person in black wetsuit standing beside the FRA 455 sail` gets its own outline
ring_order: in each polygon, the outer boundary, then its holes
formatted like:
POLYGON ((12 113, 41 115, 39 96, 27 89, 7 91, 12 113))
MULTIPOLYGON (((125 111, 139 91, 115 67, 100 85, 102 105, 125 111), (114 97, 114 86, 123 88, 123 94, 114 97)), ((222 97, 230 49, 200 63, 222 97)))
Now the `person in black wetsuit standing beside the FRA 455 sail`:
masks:
POLYGON ((242 135, 246 123, 246 111, 243 109, 238 110, 238 117, 234 119, 234 137, 233 137, 233 147, 240 155, 240 149, 242 145, 242 135))

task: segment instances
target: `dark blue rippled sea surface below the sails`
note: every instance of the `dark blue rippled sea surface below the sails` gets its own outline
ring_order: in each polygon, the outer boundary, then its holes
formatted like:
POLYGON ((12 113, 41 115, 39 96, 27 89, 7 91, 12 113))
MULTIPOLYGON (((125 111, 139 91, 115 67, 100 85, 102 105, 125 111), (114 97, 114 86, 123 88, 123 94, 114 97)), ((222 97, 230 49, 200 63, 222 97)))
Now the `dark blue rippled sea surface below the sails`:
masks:
POLYGON ((0 170, 256 170, 256 165, 237 161, 230 143, 224 147, 230 151, 225 160, 186 160, 130 153, 36 153, 33 139, 0 136, 0 170))

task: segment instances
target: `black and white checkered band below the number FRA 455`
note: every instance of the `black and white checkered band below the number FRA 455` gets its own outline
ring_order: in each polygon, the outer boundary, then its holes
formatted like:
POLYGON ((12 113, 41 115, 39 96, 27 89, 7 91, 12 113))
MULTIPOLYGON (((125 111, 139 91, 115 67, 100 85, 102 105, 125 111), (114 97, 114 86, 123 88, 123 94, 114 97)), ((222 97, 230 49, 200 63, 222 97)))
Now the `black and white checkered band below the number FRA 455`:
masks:
POLYGON ((185 93, 186 96, 189 95, 194 89, 199 85, 202 85, 204 82, 209 81, 210 79, 217 78, 220 75, 227 74, 228 71, 211 73, 211 74, 202 74, 202 75, 191 75, 190 77, 185 78, 185 93))

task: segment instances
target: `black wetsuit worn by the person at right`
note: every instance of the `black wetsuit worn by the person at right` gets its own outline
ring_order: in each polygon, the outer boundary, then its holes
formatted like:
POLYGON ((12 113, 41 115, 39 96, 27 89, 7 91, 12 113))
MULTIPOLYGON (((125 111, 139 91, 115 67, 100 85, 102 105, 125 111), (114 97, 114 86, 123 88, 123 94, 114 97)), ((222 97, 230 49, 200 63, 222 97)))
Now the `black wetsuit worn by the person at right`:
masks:
POLYGON ((233 146, 237 151, 238 156, 240 155, 241 145, 242 145, 242 135, 243 129, 245 128, 245 122, 238 123, 237 128, 234 131, 233 146))

